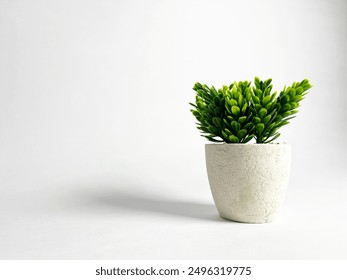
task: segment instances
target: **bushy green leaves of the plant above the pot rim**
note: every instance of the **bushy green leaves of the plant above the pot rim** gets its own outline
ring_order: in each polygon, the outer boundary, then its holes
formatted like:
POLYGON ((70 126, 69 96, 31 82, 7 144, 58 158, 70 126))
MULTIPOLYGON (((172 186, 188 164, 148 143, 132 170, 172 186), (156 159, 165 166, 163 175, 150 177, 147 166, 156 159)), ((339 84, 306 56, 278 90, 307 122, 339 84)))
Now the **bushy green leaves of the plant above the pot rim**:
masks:
POLYGON ((312 87, 305 79, 272 92, 272 79, 254 78, 216 90, 214 86, 195 83, 195 104, 191 112, 202 136, 212 142, 270 143, 280 136, 279 129, 295 117, 300 101, 312 87))

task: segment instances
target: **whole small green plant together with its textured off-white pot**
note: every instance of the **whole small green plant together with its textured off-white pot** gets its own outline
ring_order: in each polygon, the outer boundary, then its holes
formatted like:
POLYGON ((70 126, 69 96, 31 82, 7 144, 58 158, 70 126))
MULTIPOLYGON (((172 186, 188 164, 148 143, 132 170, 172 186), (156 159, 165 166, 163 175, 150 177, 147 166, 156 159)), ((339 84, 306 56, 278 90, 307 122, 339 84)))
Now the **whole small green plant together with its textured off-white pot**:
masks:
POLYGON ((205 145, 206 166, 220 216, 245 223, 271 222, 284 199, 290 145, 274 144, 312 87, 305 79, 272 92, 258 77, 216 89, 196 83, 191 112, 205 145), (251 141, 255 143, 251 143, 251 141), (246 144, 251 143, 251 144, 246 144))

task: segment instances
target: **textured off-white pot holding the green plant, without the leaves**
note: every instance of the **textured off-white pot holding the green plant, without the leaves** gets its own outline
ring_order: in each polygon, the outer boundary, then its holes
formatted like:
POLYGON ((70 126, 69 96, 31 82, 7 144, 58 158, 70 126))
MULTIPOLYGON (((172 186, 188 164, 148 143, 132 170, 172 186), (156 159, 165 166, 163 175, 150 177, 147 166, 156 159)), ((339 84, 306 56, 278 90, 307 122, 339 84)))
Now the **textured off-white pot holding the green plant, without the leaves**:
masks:
POLYGON ((206 144, 207 174, 219 214, 244 223, 271 222, 290 171, 287 144, 206 144))

